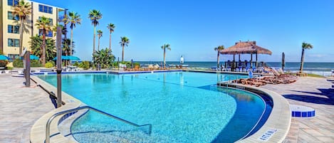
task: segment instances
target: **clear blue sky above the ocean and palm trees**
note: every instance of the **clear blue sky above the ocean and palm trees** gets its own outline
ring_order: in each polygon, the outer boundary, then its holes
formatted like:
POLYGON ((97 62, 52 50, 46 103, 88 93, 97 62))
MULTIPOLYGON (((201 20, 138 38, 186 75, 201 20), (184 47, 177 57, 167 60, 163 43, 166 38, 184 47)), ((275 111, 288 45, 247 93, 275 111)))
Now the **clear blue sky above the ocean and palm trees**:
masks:
MULTIPOLYGON (((334 61, 334 1, 241 1, 241 0, 35 0, 75 11, 83 19, 73 32, 75 55, 90 60, 93 51, 91 9, 103 14, 97 30, 103 31, 100 47, 109 46, 108 23, 115 23, 113 54, 121 57, 120 36, 130 38, 125 60, 162 60, 160 48, 169 43, 167 61, 184 55, 187 61, 216 61, 214 47, 233 46, 236 41, 256 41, 273 55, 259 60, 300 61, 301 43, 313 44, 306 61, 334 61)), ((68 33, 68 37, 70 34, 68 33)), ((96 41, 96 44, 98 41, 96 41)), ((96 46, 97 47, 97 46, 96 46)), ((221 55, 221 60, 231 59, 221 55)), ((249 60, 250 55, 241 55, 249 60)))

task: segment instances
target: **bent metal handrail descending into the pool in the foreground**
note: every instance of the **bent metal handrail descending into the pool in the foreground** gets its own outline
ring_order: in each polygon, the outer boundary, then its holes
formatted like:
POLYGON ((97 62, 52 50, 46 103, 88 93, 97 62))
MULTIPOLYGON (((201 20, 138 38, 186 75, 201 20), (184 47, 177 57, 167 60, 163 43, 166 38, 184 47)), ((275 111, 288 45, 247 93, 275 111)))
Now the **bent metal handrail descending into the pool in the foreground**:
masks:
POLYGON ((50 125, 51 125, 51 122, 52 120, 55 118, 55 117, 58 117, 60 115, 65 115, 67 113, 70 113, 70 112, 75 112, 75 111, 78 111, 78 110, 84 110, 84 109, 90 109, 90 110, 94 110, 95 112, 99 112, 103 115, 107 115, 108 117, 112 117, 114 118, 115 120, 119 120, 120 122, 125 122, 129 125, 132 125, 132 126, 135 126, 135 127, 143 127, 143 126, 149 126, 149 132, 148 134, 151 134, 152 132, 152 125, 151 124, 145 124, 145 125, 137 125, 133 122, 130 122, 130 121, 127 121, 127 120, 123 120, 121 119, 120 117, 116 117, 114 115, 110 115, 109 113, 107 112, 103 112, 101 110, 98 110, 98 109, 95 109, 94 107, 90 107, 90 106, 83 106, 83 107, 77 107, 77 108, 74 108, 74 109, 71 109, 71 110, 65 110, 65 111, 62 111, 62 112, 57 112, 56 114, 52 115, 49 119, 48 119, 48 122, 46 122, 46 143, 50 143, 50 125))

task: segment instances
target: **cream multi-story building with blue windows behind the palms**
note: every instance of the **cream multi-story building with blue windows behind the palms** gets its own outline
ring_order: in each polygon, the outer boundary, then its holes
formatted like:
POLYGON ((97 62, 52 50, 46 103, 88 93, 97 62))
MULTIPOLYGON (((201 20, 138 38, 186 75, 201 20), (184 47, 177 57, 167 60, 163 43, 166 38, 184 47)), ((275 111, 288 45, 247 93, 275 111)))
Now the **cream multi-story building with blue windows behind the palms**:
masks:
MULTIPOLYGON (((25 0, 31 5, 31 14, 24 22, 23 47, 30 50, 28 41, 31 36, 41 35, 41 30, 35 24, 38 18, 45 16, 50 18, 51 24, 56 26, 59 19, 63 17, 65 9, 48 4, 41 4, 36 1, 25 0)), ((0 0, 0 51, 9 58, 14 59, 19 56, 20 45, 20 21, 18 16, 14 16, 14 6, 19 4, 19 0, 0 0)), ((46 34, 47 38, 54 38, 52 31, 46 34)))

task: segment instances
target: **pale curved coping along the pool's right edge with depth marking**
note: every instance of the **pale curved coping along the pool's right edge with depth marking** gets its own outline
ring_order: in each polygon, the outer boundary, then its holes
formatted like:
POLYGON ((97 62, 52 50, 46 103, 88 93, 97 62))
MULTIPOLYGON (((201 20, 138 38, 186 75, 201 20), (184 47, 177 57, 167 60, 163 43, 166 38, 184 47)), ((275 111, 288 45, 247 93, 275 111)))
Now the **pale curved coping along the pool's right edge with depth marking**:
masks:
POLYGON ((272 136, 266 142, 283 142, 283 140, 288 135, 288 130, 291 125, 291 111, 288 101, 276 92, 271 90, 266 90, 264 88, 256 88, 249 85, 238 84, 236 88, 249 88, 251 90, 259 90, 264 92, 266 95, 271 96, 273 100, 273 108, 271 110, 271 115, 269 115, 268 120, 264 125, 251 136, 240 140, 239 142, 265 142, 261 141, 259 138, 263 136, 269 129, 277 129, 277 131, 272 134, 272 136))

